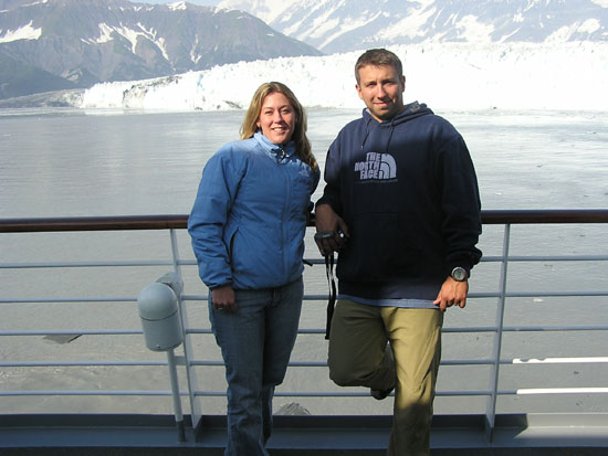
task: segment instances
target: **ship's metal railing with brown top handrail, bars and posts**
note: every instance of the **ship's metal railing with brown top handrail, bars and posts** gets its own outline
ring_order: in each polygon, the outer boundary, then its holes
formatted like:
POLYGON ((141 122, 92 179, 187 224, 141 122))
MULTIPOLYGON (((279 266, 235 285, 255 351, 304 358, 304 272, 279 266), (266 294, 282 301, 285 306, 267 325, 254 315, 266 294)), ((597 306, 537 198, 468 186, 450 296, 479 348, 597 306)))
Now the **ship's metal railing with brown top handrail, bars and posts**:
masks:
MULTIPOLYGON (((34 232, 80 232, 80 231, 134 231, 134 230, 169 230, 171 236, 172 258, 169 261, 120 261, 120 262, 48 262, 48 263, 0 263, 0 269, 23 269, 23 268, 51 268, 51 267, 143 267, 143 266, 172 266, 176 272, 179 272, 181 266, 195 265, 193 261, 182 261, 179 258, 177 251, 177 242, 175 237, 176 230, 187 227, 187 215, 140 215, 140 216, 96 216, 96 218, 55 218, 55 219, 6 219, 0 220, 0 233, 34 233, 34 232)), ((590 357, 590 358, 551 358, 545 360, 525 360, 525 359, 504 359, 501 357, 502 333, 514 331, 607 331, 606 325, 564 325, 564 326, 507 326, 503 325, 503 312, 506 298, 510 297, 532 297, 532 296, 608 296, 608 290, 595 291, 509 291, 506 289, 507 266, 512 262, 572 262, 572 261, 608 261, 608 255, 553 255, 553 256, 511 256, 509 253, 509 242, 511 237, 511 226, 513 224, 588 224, 588 223, 608 223, 608 210, 496 210, 483 211, 482 222, 486 225, 504 225, 503 253, 499 256, 488 256, 482 261, 495 262, 502 264, 501 286, 497 293, 471 293, 471 298, 497 298, 499 309, 496 314, 496 322, 490 327, 467 327, 467 328, 444 328, 444 332, 493 332, 494 337, 494 354, 492 359, 476 360, 444 360, 442 365, 469 365, 483 364, 492 367, 492 378, 488 390, 482 391, 438 391, 438 396, 441 395, 483 395, 488 397, 486 404, 486 425, 489 437, 491 438, 494 427, 496 414, 496 399, 499 395, 507 394, 554 394, 554 393, 606 393, 606 388, 585 388, 585 389, 524 389, 524 390, 500 390, 497 388, 499 369, 504 364, 515 363, 608 363, 608 358, 590 357)), ((311 225, 313 223, 311 222, 311 225)), ((312 258, 311 264, 322 264, 322 259, 312 258)), ((181 301, 206 299, 206 296, 182 295, 181 301)), ((306 295, 305 299, 325 299, 325 295, 306 295)), ((19 298, 4 299, 0 298, 0 304, 7 303, 67 303, 67 301, 134 301, 135 297, 66 297, 66 298, 19 298)), ((185 333, 192 336, 196 333, 209 333, 210 330, 189 328, 187 325, 186 309, 184 309, 182 318, 186 318, 185 333)), ((323 329, 303 329, 301 333, 323 333, 323 329)), ((62 331, 0 331, 2 336, 34 336, 34 335, 140 335, 137 330, 62 330, 62 331)), ((201 361, 196 360, 192 356, 193 351, 189 346, 188 339, 185 343, 186 359, 182 364, 188 370, 188 391, 181 392, 182 395, 190 396, 190 405, 192 410, 193 422, 197 423, 200 417, 200 406, 197 397, 209 395, 223 395, 223 392, 205 392, 199 391, 196 386, 196 375, 193 368, 200 365, 221 365, 221 361, 201 361), (198 410, 198 412, 197 412, 198 410)), ((0 367, 51 367, 51 365, 167 365, 166 362, 149 362, 143 360, 130 361, 76 361, 76 362, 2 362, 0 367)), ((325 362, 292 362, 292 367, 324 367, 325 362)), ((13 391, 0 392, 2 395, 168 395, 169 391, 13 391)), ((276 395, 302 395, 302 396, 360 396, 365 393, 359 392, 277 392, 276 395)))

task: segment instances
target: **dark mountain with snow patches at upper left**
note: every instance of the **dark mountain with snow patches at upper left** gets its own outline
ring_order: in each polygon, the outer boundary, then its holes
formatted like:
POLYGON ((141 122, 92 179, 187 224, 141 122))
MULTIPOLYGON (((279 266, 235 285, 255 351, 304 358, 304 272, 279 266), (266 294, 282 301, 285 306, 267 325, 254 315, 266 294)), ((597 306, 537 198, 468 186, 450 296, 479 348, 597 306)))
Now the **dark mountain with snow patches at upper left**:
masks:
POLYGON ((319 54, 243 11, 184 1, 0 0, 0 98, 319 54))

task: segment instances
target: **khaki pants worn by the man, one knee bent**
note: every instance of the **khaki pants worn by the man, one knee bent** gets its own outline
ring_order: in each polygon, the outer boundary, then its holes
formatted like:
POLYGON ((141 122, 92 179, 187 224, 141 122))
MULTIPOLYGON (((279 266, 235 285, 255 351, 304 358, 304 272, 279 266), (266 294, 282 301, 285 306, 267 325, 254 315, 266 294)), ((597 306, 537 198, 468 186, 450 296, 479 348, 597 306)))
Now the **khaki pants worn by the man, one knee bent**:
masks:
POLYGON ((390 456, 430 452, 442 324, 440 310, 337 301, 329 338, 329 377, 340 386, 395 388, 390 456), (386 350, 387 341, 392 353, 386 350))

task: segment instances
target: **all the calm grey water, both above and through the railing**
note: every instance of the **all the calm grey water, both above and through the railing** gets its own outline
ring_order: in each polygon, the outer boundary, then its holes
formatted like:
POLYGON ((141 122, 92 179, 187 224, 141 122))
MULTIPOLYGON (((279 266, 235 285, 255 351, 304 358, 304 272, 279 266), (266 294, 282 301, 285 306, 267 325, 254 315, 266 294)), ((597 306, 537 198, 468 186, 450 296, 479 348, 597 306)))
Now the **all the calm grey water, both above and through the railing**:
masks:
MULTIPOLYGON (((358 117, 359 110, 313 110, 310 113, 310 137, 314 152, 322 165, 325 152, 339 128, 358 117)), ((464 136, 475 162, 484 209, 579 209, 608 208, 608 116, 606 113, 438 113, 447 117, 464 136)), ((80 215, 126 214, 186 214, 189 212, 202 167, 219 146, 238 138, 243 113, 118 113, 80 110, 0 110, 0 218, 45 218, 80 215)), ((319 195, 317 190, 315 199, 319 195)), ((124 244, 115 245, 109 234, 70 235, 3 235, 0 237, 0 257, 11 261, 90 261, 167 257, 166 240, 159 241, 158 251, 149 247, 148 236, 154 234, 123 234, 124 244), (146 237, 145 240, 143 237, 146 237), (161 246, 160 246, 161 245, 161 246), (70 247, 70 248, 67 248, 70 247), (42 255, 42 257, 41 257, 42 255)), ((486 227, 481 247, 485 255, 500 254, 502 227, 486 227)), ((308 253, 314 247, 308 242, 308 253)), ((606 254, 608 229, 606 226, 515 226, 513 254, 606 254)), ((184 256, 189 255, 187 236, 180 240, 184 256)), ((321 269, 321 268, 317 268, 321 269)), ((485 263, 474 269, 472 291, 490 291, 497 287, 497 266, 485 263)), ((87 271, 52 272, 42 275, 35 269, 8 272, 0 269, 0 295, 10 296, 86 296, 97 294, 134 296, 143 286, 154 280, 156 271, 105 273, 87 271), (113 275, 115 274, 115 275, 113 275)), ((186 277, 188 294, 205 293, 191 271, 186 277), (198 284, 198 285, 197 285, 198 284)), ((323 272, 305 273, 308 279, 326 290, 323 272)), ((544 298, 543 290, 608 289, 607 263, 589 265, 541 262, 513 264, 510 269, 512 289, 538 290, 537 298, 511 299, 505 315, 507 325, 575 325, 608 324, 606 298, 544 298), (574 309, 574 310, 573 310, 574 309), (566 318, 564 318, 566 317, 566 318)), ((302 327, 319 327, 324 318, 325 303, 312 304, 303 314, 302 327)), ((449 312, 448 326, 484 326, 494 322, 495 303, 471 299, 463 311, 449 312)), ((65 321, 76 319, 82 328, 138 328, 134 309, 125 305, 35 306, 1 305, 0 330, 61 329, 65 321), (108 309, 109 308, 109 309, 108 309), (38 318, 33 318, 33 317, 38 318)), ((205 306, 192 306, 192 319, 206 321, 205 306)), ((579 337, 579 336, 578 336, 579 337)), ((316 357, 323 360, 326 343, 317 336, 303 336, 294 352, 295 360, 316 357)), ((608 343, 605 335, 589 332, 585 342, 569 333, 517 333, 506 338, 504 357, 543 358, 566 356, 604 356, 608 343)), ((31 340, 29 340, 31 342, 31 340)), ((109 346, 99 347, 94 337, 81 337, 74 342, 57 346, 39 338, 23 346, 18 338, 3 341, 2 360, 38 360, 49 351, 57 357, 81 359, 87 353, 92 359, 120 358, 124 340, 115 338, 109 346), (107 354, 104 350, 108 350, 107 354)), ((211 358, 219 359, 213 342, 211 358)), ((447 335, 443 358, 490 357, 489 335, 447 335), (462 353, 464 350, 464 354, 462 353)), ((125 358, 132 353, 124 353, 125 358)), ((141 358, 150 357, 145 350, 141 358)), ((502 388, 509 389, 513 379, 521 378, 518 368, 505 367, 502 388)), ((542 385, 601 386, 598 379, 608 378, 608 369, 566 365, 549 368, 551 379, 539 380, 535 368, 526 372, 531 388, 542 385), (563 380, 563 381, 562 381, 563 380)), ((458 368, 442 368, 439 388, 443 390, 488 388, 486 371, 479 368, 473 379, 463 377, 458 368)), ((20 388, 41 388, 40 379, 32 379, 17 370, 0 372, 0 384, 10 389, 14 382, 20 388), (12 372, 12 371, 11 371, 12 372), (38 382, 38 383, 36 383, 38 382)), ((546 372, 546 370, 545 370, 546 372)), ((56 372, 43 375, 44 389, 62 389, 56 372)), ((112 369, 83 369, 70 371, 73 388, 91 389, 87 375, 94 375, 99 389, 116 388, 112 369)), ((144 389, 149 374, 141 370, 129 379, 124 388, 144 389)), ((221 390, 222 372, 211 375, 206 390, 221 390)), ((65 378, 64 378, 65 379, 65 378)), ((544 378, 543 378, 544 379, 544 378)), ((120 378, 120 381, 124 379, 120 378)), ((332 389, 326 372, 318 375, 301 375, 290 370, 285 389, 317 390, 317 382, 332 389), (308 377, 311 377, 308 379, 308 377), (319 380, 321 379, 321 380, 319 380), (312 384, 311 384, 312 383, 312 384)), ((150 389, 167 389, 166 378, 157 380, 150 389)), ((0 406, 11 410, 11 400, 0 397, 0 406)), ((67 401, 67 400, 66 400, 67 401)), ((84 400, 72 399, 67 411, 90 411, 84 400)), ((211 412, 221 413, 222 399, 207 400, 211 412), (213 402, 214 401, 214 402, 213 402), (209 405, 211 403, 211 405, 209 405), (214 404, 214 405, 213 405, 214 404), (216 407, 216 409, 214 409, 216 407)), ((285 402, 284 400, 283 402, 285 402)), ((505 411, 520 411, 520 397, 505 400, 505 411)), ((553 411, 601 411, 608 401, 597 395, 572 395, 562 402, 531 396, 531 409, 553 411)), ((52 400, 50 400, 52 402, 52 400)), ((146 401, 144 401, 146 402, 146 401)), ((324 405, 308 400, 305 406, 313 413, 336 413, 335 404, 324 405), (328 411, 327 407, 331 410, 328 411)), ((386 401, 385 401, 386 402, 386 401)), ((20 402, 20 406, 23 402, 20 402)), ((62 402, 63 404, 63 402, 62 402)), ((128 402, 128 410, 156 412, 147 403, 128 402)), ((113 404, 114 406, 115 404, 113 404)), ((277 400, 277 405, 281 401, 277 400)), ((32 399, 30 410, 40 404, 32 399)), ((57 406, 55 404, 55 406, 57 406)), ((170 407, 166 400, 165 407, 170 407)), ((370 413, 370 406, 390 413, 390 404, 350 400, 340 403, 338 412, 370 413)), ((526 405, 527 406, 527 405, 526 405)), ((60 406, 60 409, 63 405, 60 406)), ((105 411, 103 403, 96 411, 105 411)), ((438 413, 462 411, 463 407, 483 412, 484 400, 439 397, 438 413), (467 402, 463 404, 463 401, 467 402)), ((525 406, 524 406, 525 409, 525 406)), ((7 410, 7 409, 4 409, 7 410)), ((112 409, 108 409, 112 411, 112 409)), ((209 412, 209 409, 208 409, 209 412)))

